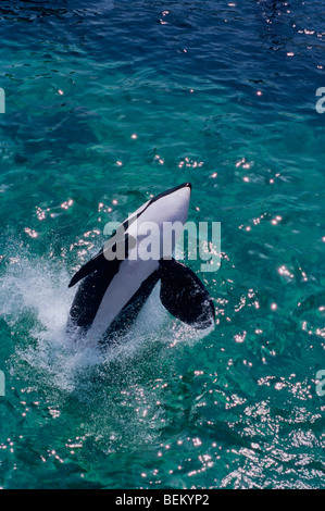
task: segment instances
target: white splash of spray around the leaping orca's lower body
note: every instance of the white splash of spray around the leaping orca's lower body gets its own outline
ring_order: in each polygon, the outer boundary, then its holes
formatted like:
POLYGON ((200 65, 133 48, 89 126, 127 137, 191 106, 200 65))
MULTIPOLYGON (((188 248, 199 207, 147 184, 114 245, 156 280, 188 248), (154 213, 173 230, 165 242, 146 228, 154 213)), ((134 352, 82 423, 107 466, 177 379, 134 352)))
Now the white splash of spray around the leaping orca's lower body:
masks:
MULTIPOLYGON (((102 381, 103 375, 113 371, 117 381, 120 373, 134 378, 134 364, 139 357, 150 360, 163 347, 202 337, 193 328, 171 320, 160 302, 158 284, 133 327, 114 346, 101 351, 97 346, 76 342, 66 333, 75 290, 67 288, 65 262, 34 257, 13 240, 10 247, 0 289, 0 314, 15 334, 13 375, 22 371, 26 375, 28 367, 29 379, 77 392, 84 399, 89 395, 89 385, 102 381)), ((110 376, 104 381, 109 384, 110 376)))

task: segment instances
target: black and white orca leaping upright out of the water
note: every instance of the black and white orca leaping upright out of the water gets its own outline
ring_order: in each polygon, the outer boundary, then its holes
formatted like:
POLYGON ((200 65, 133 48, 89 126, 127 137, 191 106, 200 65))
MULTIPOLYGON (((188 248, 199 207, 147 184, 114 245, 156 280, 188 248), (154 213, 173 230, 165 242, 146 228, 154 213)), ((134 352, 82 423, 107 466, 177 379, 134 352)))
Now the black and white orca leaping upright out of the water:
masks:
MULTIPOLYGON (((146 202, 113 234, 111 242, 72 278, 68 287, 80 282, 68 317, 68 329, 77 328, 98 342, 125 331, 137 317, 155 284, 161 281, 160 299, 180 321, 207 328, 214 324, 212 299, 198 276, 172 258, 177 237, 187 221, 191 185, 183 184, 146 202), (176 225, 173 242, 165 247, 163 225, 176 225), (148 259, 148 225, 155 226, 151 245, 159 247, 148 259), (118 236, 117 236, 118 234, 118 236), (124 248, 124 259, 110 258, 124 248)), ((151 247, 152 248, 152 247, 151 247)))

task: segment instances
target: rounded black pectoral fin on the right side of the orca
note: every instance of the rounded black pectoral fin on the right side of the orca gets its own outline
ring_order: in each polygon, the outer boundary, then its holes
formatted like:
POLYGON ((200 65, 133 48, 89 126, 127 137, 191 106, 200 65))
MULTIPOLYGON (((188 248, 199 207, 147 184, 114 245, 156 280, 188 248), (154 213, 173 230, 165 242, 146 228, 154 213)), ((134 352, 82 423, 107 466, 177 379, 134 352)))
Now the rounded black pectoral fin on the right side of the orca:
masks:
POLYGON ((191 270, 171 259, 160 261, 160 298, 172 315, 198 328, 214 324, 212 299, 191 270))

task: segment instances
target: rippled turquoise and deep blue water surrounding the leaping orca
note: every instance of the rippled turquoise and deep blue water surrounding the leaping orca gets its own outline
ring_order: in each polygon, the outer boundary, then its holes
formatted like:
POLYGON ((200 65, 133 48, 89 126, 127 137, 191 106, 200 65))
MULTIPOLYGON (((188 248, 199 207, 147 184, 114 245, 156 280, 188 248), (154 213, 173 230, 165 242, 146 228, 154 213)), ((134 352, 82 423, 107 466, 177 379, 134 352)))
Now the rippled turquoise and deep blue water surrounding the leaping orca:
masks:
POLYGON ((322 3, 1 2, 1 487, 325 487, 322 3), (154 292, 73 346, 104 224, 185 180, 222 225, 221 270, 188 263, 215 329, 154 292))

